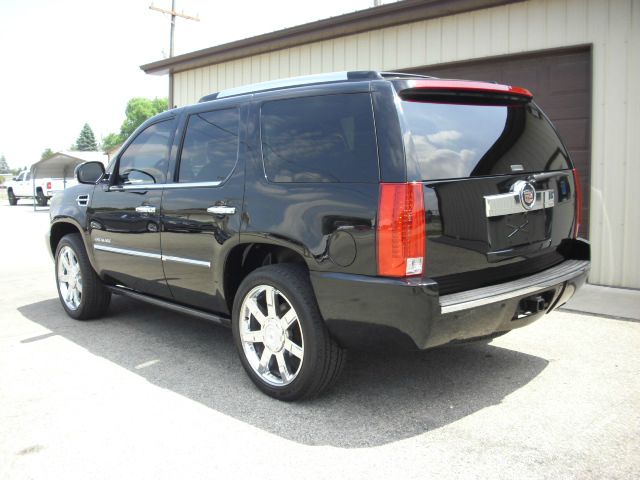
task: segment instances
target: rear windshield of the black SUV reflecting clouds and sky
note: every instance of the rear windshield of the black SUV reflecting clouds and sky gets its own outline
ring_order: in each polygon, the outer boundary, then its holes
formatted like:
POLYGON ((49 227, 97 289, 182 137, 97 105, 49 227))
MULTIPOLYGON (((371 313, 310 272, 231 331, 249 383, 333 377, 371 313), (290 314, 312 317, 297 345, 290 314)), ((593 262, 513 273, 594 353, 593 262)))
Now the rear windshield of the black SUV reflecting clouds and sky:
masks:
MULTIPOLYGON (((403 101, 418 178, 541 172, 570 168, 549 120, 534 103, 509 106, 403 101)), ((411 156, 411 155, 409 155, 411 156)))

